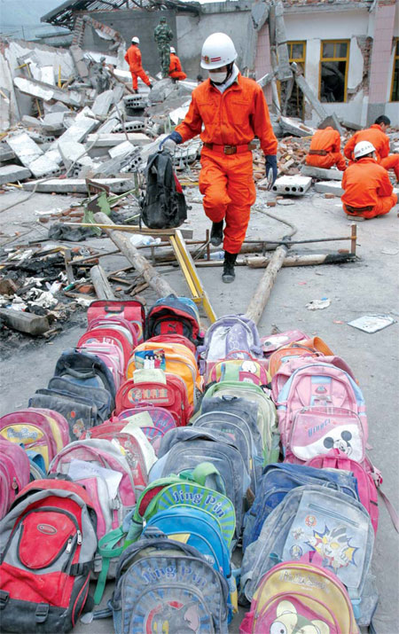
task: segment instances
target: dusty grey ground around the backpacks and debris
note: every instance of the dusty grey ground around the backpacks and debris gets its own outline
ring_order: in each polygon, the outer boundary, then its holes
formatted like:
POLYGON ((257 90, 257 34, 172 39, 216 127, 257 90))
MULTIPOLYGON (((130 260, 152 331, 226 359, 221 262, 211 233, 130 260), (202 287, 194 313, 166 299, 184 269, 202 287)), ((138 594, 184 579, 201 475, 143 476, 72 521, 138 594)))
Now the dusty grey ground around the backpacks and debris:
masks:
MULTIPOLYGON (((26 195, 7 192, 1 197, 0 208, 22 200, 26 195)), ((187 226, 192 227, 195 238, 203 239, 208 222, 200 206, 200 193, 191 189, 187 198, 192 204, 187 226)), ((266 200, 274 200, 273 194, 259 194, 251 215, 248 239, 280 239, 286 234, 285 225, 261 213, 266 209, 266 200)), ((301 199, 291 200, 293 204, 278 205, 271 211, 295 224, 298 229, 296 239, 350 234, 350 223, 343 214, 340 199, 325 200, 322 194, 309 193, 301 199)), ((65 195, 35 194, 26 203, 22 202, 18 207, 0 214, 0 230, 13 236, 14 231, 22 233, 33 228, 21 240, 37 239, 39 234, 44 237, 47 228, 38 227, 35 210, 66 208, 71 201, 75 202, 76 199, 65 195)), ((367 334, 349 326, 347 322, 370 313, 388 313, 399 319, 398 209, 395 207, 388 215, 357 224, 359 262, 281 270, 259 324, 261 336, 270 333, 274 326, 280 331, 299 328, 309 335, 318 334, 335 354, 344 357, 352 367, 364 391, 367 406, 369 442, 372 445, 370 458, 381 469, 384 478, 382 488, 396 508, 399 508, 399 325, 395 323, 379 333, 367 334), (310 311, 306 308, 309 301, 325 297, 331 300, 327 309, 310 311)), ((1 239, 3 241, 4 236, 1 239)), ((112 247, 109 239, 90 239, 90 245, 104 250, 112 247)), ((301 252, 325 253, 338 248, 348 248, 348 245, 344 242, 314 244, 302 248, 301 252)), ((123 256, 115 255, 102 258, 102 264, 106 270, 127 265, 123 256)), ((235 283, 228 286, 221 282, 221 269, 200 269, 200 278, 217 316, 245 312, 262 278, 262 272, 239 267, 235 283)), ((188 294, 180 270, 168 272, 166 276, 178 294, 188 294)), ((144 295, 147 306, 151 306, 155 300, 154 294, 144 295)), ((59 354, 63 349, 73 346, 84 329, 84 314, 76 314, 74 325, 65 327, 63 333, 54 340, 32 341, 24 347, 16 346, 12 356, 4 358, 0 364, 1 414, 26 406, 28 397, 35 389, 46 386, 59 354)), ((379 589, 375 630, 378 634, 395 634, 399 622, 398 535, 381 500, 372 569, 379 589)), ((108 583, 106 598, 110 596, 112 586, 112 583, 108 583)), ((103 604, 105 602, 106 599, 103 604)), ((231 633, 239 632, 242 614, 241 611, 231 623, 231 633)), ((113 626, 110 619, 89 625, 80 622, 74 631, 77 634, 101 634, 112 632, 113 626)))

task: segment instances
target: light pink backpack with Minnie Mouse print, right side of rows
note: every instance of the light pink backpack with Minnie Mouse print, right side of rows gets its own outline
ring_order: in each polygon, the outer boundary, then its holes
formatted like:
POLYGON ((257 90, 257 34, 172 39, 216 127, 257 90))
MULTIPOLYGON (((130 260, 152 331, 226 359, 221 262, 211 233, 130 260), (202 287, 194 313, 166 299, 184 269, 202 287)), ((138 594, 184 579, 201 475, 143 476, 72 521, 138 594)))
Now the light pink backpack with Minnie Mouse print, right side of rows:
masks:
POLYGON ((356 385, 348 372, 344 372, 332 364, 301 365, 298 370, 291 374, 280 390, 277 408, 278 429, 281 434, 283 450, 286 450, 289 445, 295 416, 299 415, 305 408, 309 411, 309 415, 314 413, 315 417, 319 417, 319 423, 322 426, 326 420, 323 411, 328 414, 326 408, 351 411, 361 420, 359 433, 360 428, 362 428, 364 438, 368 437, 364 396, 360 387, 356 385))

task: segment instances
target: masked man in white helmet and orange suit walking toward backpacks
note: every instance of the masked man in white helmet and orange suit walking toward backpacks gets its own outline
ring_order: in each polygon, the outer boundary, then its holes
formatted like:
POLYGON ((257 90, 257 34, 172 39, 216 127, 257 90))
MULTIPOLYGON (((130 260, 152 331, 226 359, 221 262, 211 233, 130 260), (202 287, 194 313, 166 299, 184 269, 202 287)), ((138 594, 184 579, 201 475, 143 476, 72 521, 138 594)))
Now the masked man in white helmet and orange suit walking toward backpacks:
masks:
POLYGON ((173 153, 176 144, 200 134, 200 192, 204 194, 205 213, 212 221, 210 241, 217 247, 223 240, 225 283, 235 278, 234 265, 256 199, 251 153, 254 136, 259 137, 266 155, 269 188, 278 171, 278 142, 262 88, 239 73, 235 59, 237 52, 228 35, 207 37, 200 64, 209 76, 192 91, 184 121, 160 144, 173 153))

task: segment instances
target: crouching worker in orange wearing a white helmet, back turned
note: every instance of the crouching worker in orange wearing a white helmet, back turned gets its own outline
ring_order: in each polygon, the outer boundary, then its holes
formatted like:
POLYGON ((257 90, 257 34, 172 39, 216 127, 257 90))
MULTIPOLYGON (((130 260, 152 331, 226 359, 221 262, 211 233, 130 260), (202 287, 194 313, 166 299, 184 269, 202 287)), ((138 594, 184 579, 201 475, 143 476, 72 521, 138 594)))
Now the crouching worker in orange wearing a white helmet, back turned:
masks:
POLYGON ((355 162, 342 175, 344 211, 354 220, 387 214, 397 203, 397 196, 387 170, 375 160, 375 147, 360 141, 354 149, 355 162))

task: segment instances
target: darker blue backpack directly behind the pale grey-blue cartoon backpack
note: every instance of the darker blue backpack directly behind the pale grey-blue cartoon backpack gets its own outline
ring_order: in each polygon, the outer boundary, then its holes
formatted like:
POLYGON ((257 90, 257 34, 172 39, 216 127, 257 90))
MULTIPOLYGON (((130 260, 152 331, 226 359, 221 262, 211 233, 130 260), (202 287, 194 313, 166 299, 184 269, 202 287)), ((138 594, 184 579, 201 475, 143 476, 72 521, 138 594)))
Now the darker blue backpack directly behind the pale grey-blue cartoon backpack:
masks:
POLYGON ((331 487, 359 499, 356 478, 339 469, 315 469, 313 466, 289 465, 277 463, 263 470, 259 481, 254 504, 244 518, 243 551, 260 535, 264 521, 295 487, 305 484, 318 484, 331 487))

